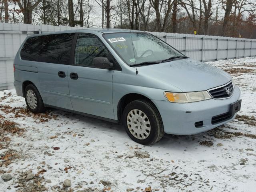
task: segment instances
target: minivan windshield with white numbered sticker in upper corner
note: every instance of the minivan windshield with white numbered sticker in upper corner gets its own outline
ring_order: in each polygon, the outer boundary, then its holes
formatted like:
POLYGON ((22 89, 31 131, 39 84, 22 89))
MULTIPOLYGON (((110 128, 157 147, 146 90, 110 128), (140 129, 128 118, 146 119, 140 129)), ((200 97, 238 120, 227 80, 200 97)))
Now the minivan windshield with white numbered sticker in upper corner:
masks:
POLYGON ((149 33, 111 33, 104 34, 104 38, 129 66, 157 64, 170 58, 186 58, 186 56, 149 33))

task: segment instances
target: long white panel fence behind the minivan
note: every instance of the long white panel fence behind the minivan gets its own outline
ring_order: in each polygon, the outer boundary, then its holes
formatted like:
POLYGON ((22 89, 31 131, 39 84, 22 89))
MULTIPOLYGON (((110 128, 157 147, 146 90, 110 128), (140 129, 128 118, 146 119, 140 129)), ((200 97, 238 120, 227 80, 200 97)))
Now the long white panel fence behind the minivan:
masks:
MULTIPOLYGON (((82 28, 0 23, 0 90, 13 88, 13 60, 17 50, 28 35, 72 29, 82 28)), ((150 33, 164 40, 186 56, 203 62, 256 56, 255 39, 160 32, 150 33)))

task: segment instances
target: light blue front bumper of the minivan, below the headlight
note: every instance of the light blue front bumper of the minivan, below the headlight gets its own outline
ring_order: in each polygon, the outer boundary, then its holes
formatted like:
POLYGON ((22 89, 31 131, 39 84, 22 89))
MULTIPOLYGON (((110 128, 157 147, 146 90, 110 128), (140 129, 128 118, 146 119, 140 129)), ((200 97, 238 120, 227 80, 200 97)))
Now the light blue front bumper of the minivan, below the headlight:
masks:
POLYGON ((190 135, 213 129, 232 121, 236 114, 230 118, 212 124, 212 117, 230 111, 230 104, 240 99, 240 90, 234 86, 231 98, 222 100, 205 100, 192 103, 171 103, 168 101, 152 100, 158 108, 164 124, 164 131, 168 134, 190 135), (196 122, 203 121, 202 126, 196 127, 196 122))

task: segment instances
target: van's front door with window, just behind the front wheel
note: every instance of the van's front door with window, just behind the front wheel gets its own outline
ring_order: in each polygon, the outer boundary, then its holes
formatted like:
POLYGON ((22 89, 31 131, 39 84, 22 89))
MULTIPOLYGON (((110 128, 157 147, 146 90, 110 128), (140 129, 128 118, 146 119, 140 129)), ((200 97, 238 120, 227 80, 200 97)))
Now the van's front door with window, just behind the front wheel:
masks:
POLYGON ((112 104, 113 70, 97 68, 95 57, 108 58, 109 52, 92 34, 78 34, 74 65, 68 68, 68 84, 73 110, 114 119, 112 104))

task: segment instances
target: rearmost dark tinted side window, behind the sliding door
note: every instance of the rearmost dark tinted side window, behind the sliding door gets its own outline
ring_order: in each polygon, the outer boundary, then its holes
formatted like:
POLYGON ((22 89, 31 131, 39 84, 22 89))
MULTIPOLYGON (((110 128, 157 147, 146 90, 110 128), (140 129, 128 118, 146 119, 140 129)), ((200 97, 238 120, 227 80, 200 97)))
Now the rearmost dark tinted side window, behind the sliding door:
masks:
POLYGON ((32 37, 26 40, 21 51, 20 57, 22 60, 37 61, 41 47, 41 37, 32 37))

